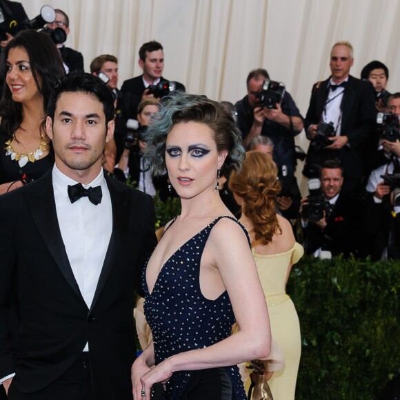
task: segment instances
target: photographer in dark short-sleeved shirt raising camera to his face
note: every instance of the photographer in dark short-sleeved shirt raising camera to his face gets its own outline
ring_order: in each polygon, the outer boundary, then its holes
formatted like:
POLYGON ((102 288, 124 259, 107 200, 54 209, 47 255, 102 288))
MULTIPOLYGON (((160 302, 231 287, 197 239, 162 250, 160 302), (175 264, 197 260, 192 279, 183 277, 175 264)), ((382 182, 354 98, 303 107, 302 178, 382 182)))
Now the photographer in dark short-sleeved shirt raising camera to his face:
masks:
POLYGON ((296 157, 294 136, 303 129, 303 118, 288 92, 284 92, 280 102, 268 108, 260 103, 260 94, 268 72, 261 68, 252 70, 247 78, 247 93, 236 103, 237 124, 241 130, 243 143, 248 146, 257 136, 268 136, 274 142, 273 159, 278 167, 287 166, 288 173, 294 174, 296 157))

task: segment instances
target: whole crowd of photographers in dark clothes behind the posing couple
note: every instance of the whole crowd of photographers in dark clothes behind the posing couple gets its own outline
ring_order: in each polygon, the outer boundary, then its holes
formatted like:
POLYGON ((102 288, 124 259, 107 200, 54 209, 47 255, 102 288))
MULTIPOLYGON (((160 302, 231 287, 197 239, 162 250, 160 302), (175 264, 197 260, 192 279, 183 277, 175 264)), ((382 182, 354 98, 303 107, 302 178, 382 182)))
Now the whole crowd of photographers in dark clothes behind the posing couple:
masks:
MULTIPOLYGON (((6 3, 10 2, 0 2, 0 10, 6 3)), ((55 16, 50 12, 46 19, 42 10, 44 19, 33 20, 21 14, 21 26, 37 28, 39 23, 59 48, 66 72, 83 69, 81 53, 63 44, 68 16, 62 10, 53 12, 55 16)), ((14 34, 4 27, 3 19, 1 46, 14 34)), ((350 75, 353 60, 350 43, 334 44, 331 75, 312 87, 306 117, 284 83, 273 81, 261 68, 248 74, 243 99, 235 105, 221 103, 236 119, 246 148, 269 152, 277 163, 281 181, 277 209, 292 221, 306 253, 399 258, 400 93, 386 90, 389 72, 383 63, 368 63, 357 79, 350 75), (307 152, 294 142, 303 130, 310 141, 307 152), (303 199, 295 177, 298 160, 304 161, 302 174, 308 179, 309 194, 303 199)), ((159 192, 166 200, 174 196, 168 190, 168 177, 152 177, 143 157, 146 129, 159 101, 185 87, 163 77, 163 47, 157 41, 141 46, 139 66, 143 74, 124 81, 119 90, 116 57, 103 54, 90 64, 90 72, 112 90, 117 110, 114 141, 106 148, 104 168, 122 181, 130 177, 140 190, 159 192)), ((228 180, 229 173, 224 171, 223 179, 228 180)), ((227 186, 221 184, 221 197, 232 212, 238 212, 227 186)))

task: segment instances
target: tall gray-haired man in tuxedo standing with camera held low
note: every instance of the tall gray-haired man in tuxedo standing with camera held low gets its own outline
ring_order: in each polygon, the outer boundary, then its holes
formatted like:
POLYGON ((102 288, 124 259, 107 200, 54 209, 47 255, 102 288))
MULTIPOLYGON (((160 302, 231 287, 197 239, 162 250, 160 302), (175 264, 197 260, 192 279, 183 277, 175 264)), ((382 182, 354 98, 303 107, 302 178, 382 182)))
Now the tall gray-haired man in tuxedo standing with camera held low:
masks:
POLYGON ((310 177, 314 166, 322 166, 327 159, 340 159, 344 172, 342 190, 350 195, 361 191, 361 179, 366 174, 363 150, 374 140, 376 115, 374 88, 369 81, 350 76, 353 61, 350 43, 334 44, 330 52, 332 75, 314 84, 304 123, 311 143, 303 174, 310 177), (334 132, 325 146, 317 127, 330 122, 334 132))

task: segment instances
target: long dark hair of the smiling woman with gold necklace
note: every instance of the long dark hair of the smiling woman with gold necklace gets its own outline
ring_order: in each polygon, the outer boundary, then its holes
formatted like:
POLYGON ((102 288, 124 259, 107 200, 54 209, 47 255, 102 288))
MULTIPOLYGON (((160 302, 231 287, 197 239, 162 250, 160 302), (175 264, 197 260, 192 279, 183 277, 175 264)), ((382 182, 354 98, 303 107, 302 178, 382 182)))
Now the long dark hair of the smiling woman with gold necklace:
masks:
POLYGON ((1 54, 0 61, 0 74, 4 81, 0 101, 0 129, 2 133, 10 137, 21 127, 22 122, 21 103, 12 100, 12 93, 6 83, 7 59, 12 48, 23 48, 28 53, 32 75, 43 97, 45 112, 55 83, 66 73, 61 54, 48 34, 36 30, 23 30, 8 43, 1 54))

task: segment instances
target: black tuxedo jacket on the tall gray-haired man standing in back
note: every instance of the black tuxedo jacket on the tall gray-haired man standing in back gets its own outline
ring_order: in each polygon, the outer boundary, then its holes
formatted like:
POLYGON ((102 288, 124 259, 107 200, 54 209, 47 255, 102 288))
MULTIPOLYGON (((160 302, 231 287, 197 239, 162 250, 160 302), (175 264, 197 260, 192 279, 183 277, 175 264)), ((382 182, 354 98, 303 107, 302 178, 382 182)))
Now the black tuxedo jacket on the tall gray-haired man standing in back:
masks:
MULTIPOLYGON (((329 79, 314 84, 310 106, 304 121, 306 132, 310 125, 321 122, 328 97, 329 79)), ((339 158, 345 179, 360 179, 363 175, 363 150, 375 132, 374 88, 368 81, 349 77, 341 101, 341 136, 348 137, 348 146, 341 150, 322 150, 317 153, 310 146, 306 163, 321 165, 326 159, 339 158)))

